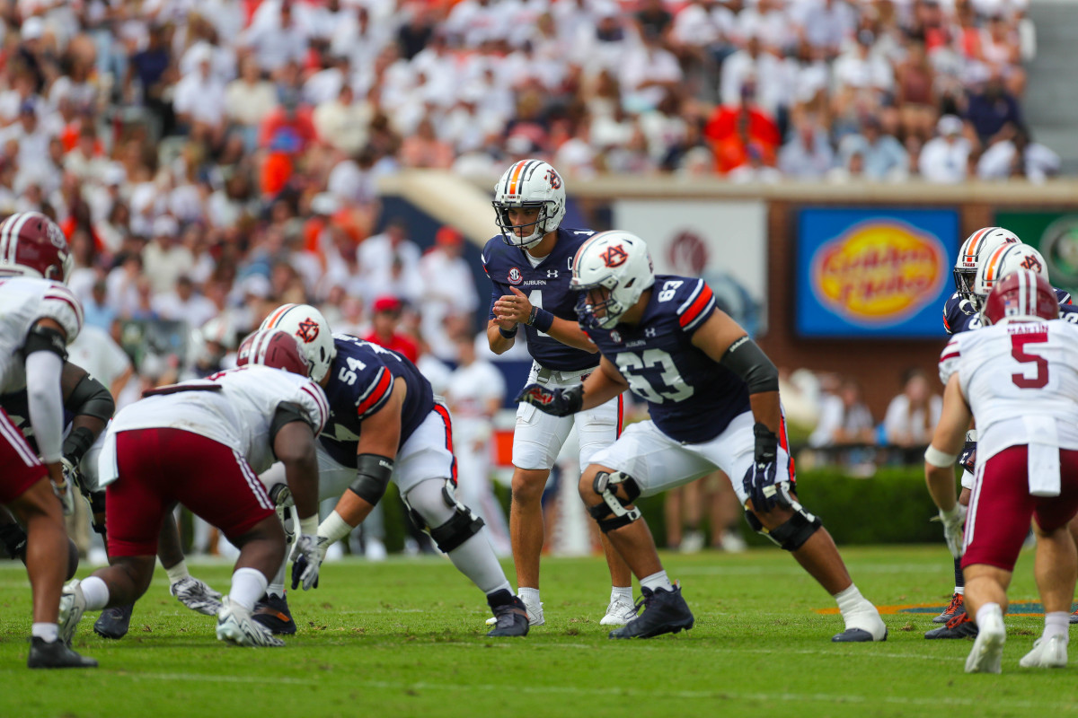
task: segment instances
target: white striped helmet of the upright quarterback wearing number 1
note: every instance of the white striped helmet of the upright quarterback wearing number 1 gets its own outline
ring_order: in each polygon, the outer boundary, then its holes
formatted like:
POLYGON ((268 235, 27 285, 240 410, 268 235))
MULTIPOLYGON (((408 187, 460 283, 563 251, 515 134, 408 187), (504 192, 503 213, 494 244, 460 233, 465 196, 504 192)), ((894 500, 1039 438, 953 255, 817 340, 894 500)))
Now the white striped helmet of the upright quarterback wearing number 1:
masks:
POLYGON ((502 240, 511 247, 531 247, 544 235, 555 231, 565 219, 565 182, 553 167, 541 159, 522 159, 506 170, 494 185, 495 222, 502 240), (521 237, 509 221, 510 208, 538 208, 539 216, 530 234, 521 237))

